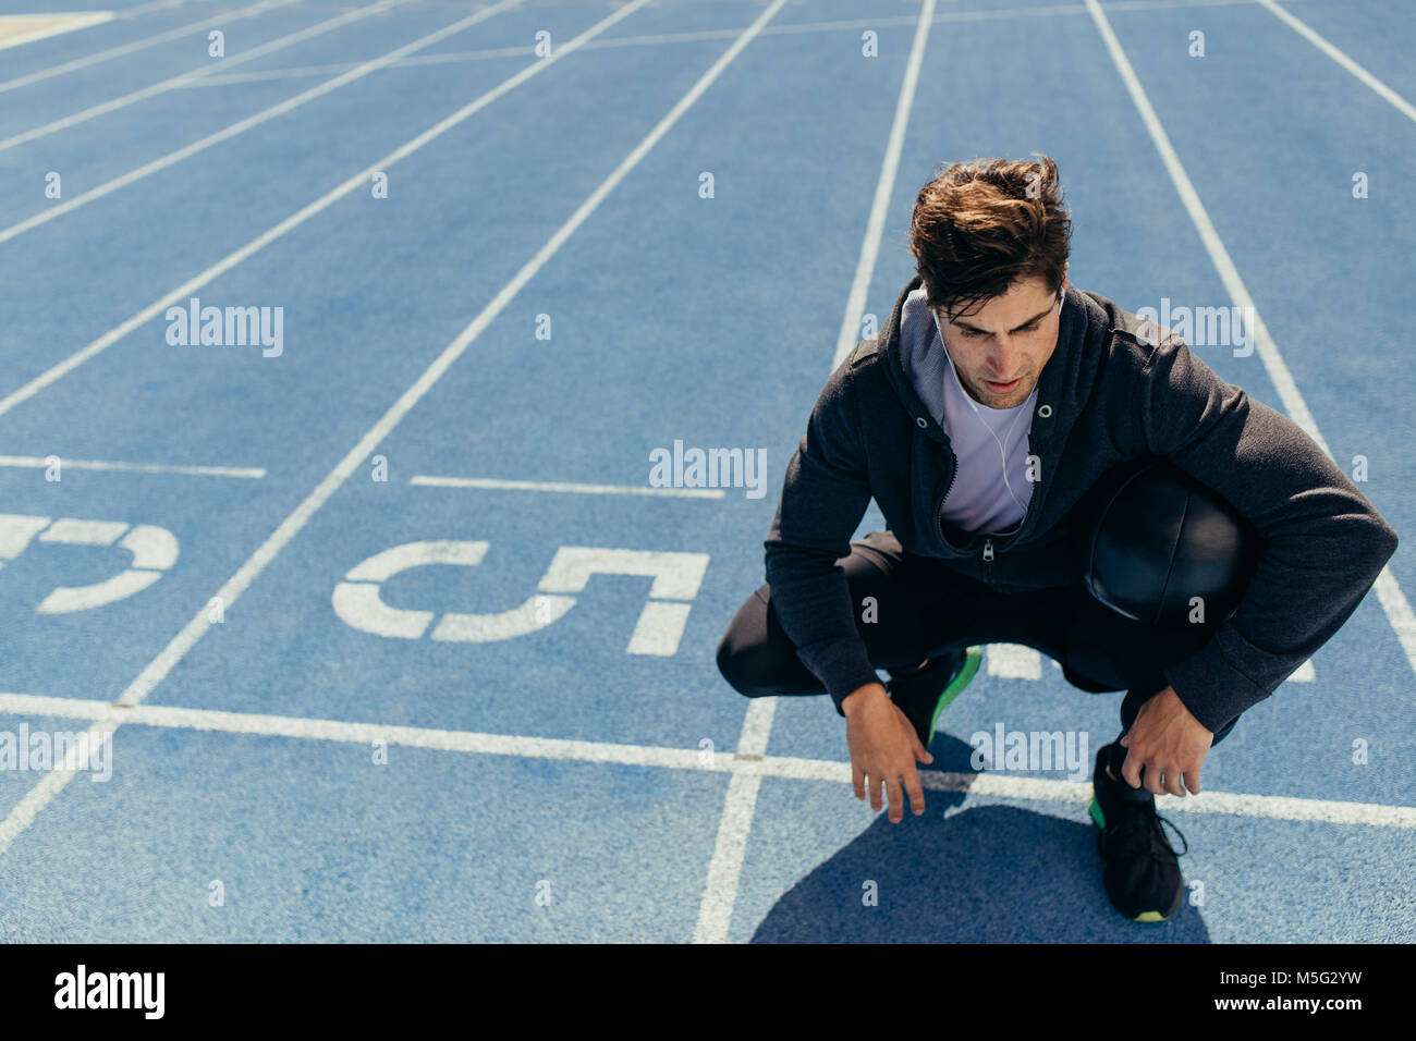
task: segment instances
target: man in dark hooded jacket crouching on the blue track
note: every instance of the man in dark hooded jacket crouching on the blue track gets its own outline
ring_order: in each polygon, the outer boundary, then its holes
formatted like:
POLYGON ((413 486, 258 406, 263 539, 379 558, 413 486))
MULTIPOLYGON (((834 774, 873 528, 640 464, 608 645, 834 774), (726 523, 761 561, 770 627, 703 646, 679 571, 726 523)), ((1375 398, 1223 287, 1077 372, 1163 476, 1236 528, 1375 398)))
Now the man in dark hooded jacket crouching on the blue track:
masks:
POLYGON ((905 796, 925 812, 915 763, 980 644, 1126 690, 1090 813, 1112 904, 1165 921, 1184 882, 1155 795, 1201 790, 1209 748, 1347 622, 1398 540, 1296 423, 1069 285, 1070 232, 1045 156, 923 187, 918 273, 827 380, 718 667, 749 697, 828 694, 855 797, 879 810, 884 789, 895 823, 905 796), (871 497, 888 530, 851 542, 871 497))

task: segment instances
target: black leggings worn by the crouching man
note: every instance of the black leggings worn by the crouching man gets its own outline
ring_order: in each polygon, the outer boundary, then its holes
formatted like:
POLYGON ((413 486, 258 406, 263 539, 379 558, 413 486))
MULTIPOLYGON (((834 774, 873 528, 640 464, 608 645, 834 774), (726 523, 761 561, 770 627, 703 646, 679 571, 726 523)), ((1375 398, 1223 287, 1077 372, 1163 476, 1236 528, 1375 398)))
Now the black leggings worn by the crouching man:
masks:
MULTIPOLYGON (((1076 582, 1034 592, 1000 593, 952 571, 943 561, 905 552, 889 531, 851 542, 845 571, 857 630, 877 669, 909 673, 926 657, 986 643, 1021 643, 1062 666, 1073 687, 1126 691, 1121 732, 1140 707, 1168 684, 1163 669, 1199 650, 1219 620, 1161 627, 1133 622, 1076 582), (860 605, 875 598, 875 620, 860 605)), ((796 654, 763 585, 728 626, 718 644, 718 670, 741 694, 824 694, 821 681, 796 654)), ((1238 717, 1236 717, 1238 718, 1238 717)), ((1215 734, 1218 744, 1233 728, 1215 734)))

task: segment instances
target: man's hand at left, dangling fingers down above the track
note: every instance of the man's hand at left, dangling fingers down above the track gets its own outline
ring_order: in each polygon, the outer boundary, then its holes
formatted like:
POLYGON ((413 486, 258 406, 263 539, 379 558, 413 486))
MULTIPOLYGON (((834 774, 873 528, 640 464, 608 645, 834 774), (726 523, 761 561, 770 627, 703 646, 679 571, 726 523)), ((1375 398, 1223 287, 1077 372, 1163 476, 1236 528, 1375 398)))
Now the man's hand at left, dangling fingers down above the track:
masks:
POLYGON ((845 695, 841 701, 845 712, 845 744, 851 755, 851 785, 855 797, 864 799, 865 789, 871 792, 871 809, 881 809, 881 785, 889 797, 889 819, 898 824, 905 816, 905 800, 901 783, 909 795, 910 809, 918 817, 925 812, 925 789, 915 772, 915 761, 935 761, 919 735, 905 718, 885 687, 868 683, 845 695))

